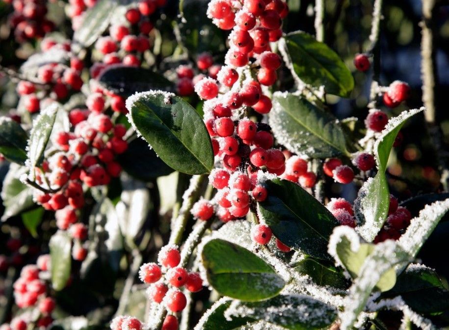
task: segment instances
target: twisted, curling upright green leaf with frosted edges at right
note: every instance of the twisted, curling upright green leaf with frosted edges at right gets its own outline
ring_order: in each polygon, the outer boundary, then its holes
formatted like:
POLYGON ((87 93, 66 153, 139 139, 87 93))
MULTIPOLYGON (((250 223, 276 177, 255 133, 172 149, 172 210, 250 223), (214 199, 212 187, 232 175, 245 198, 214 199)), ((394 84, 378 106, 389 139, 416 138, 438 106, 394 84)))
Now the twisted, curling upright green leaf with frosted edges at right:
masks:
POLYGON ((390 192, 388 189, 385 170, 387 167, 390 150, 396 139, 396 135, 405 121, 423 111, 424 108, 404 111, 395 118, 391 118, 382 131, 379 139, 374 144, 374 156, 377 163, 377 174, 368 179, 359 190, 354 201, 354 210, 359 223, 359 234, 371 242, 382 228, 388 215, 390 206, 390 192))

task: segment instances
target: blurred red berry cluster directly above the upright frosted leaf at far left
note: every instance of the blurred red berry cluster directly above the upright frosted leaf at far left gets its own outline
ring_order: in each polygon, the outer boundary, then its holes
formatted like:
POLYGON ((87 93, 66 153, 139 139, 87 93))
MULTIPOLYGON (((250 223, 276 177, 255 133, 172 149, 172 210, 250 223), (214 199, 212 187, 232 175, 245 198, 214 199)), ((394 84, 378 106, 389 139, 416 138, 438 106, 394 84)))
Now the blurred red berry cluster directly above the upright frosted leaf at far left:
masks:
MULTIPOLYGON (((56 46, 51 45, 51 41, 47 41, 45 47, 56 46)), ((36 113, 52 100, 65 99, 69 94, 79 92, 83 84, 81 79, 83 67, 83 62, 76 56, 71 57, 70 67, 60 63, 41 66, 36 74, 36 80, 40 84, 26 80, 18 83, 17 93, 21 96, 21 103, 28 112, 36 113)))

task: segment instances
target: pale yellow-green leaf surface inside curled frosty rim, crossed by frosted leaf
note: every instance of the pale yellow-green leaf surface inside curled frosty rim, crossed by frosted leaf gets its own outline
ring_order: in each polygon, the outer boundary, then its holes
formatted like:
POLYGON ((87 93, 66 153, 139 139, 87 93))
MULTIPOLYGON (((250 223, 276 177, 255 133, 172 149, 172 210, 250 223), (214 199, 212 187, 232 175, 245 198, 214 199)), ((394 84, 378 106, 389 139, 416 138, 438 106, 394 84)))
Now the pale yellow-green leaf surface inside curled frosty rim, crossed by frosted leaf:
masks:
MULTIPOLYGON (((373 244, 360 244, 359 250, 354 252, 351 250, 351 243, 343 237, 342 241, 337 244, 337 255, 342 261, 344 267, 353 279, 357 278, 365 259, 374 250, 373 244)), ((376 288, 380 291, 390 290, 396 283, 396 271, 394 268, 389 269, 376 283, 376 288)))

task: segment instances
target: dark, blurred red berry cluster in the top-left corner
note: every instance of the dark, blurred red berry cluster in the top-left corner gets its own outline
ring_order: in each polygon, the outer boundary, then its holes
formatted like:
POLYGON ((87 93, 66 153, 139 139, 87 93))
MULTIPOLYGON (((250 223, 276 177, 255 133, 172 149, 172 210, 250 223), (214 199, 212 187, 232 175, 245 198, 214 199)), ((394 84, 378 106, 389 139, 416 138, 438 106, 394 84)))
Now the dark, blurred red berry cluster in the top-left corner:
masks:
POLYGON ((14 37, 22 43, 29 39, 42 38, 53 31, 54 23, 48 20, 45 0, 5 0, 12 3, 14 12, 10 16, 14 37))

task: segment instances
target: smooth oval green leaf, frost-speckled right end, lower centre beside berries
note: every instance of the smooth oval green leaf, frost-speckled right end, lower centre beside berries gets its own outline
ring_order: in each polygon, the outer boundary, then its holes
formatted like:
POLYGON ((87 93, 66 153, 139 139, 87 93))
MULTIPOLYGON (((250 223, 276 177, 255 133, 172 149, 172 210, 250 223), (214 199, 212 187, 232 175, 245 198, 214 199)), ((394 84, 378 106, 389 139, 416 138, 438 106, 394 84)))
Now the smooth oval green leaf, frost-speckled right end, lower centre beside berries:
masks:
POLYGON ((242 301, 259 301, 277 295, 284 280, 264 260, 223 239, 212 239, 201 257, 208 282, 218 293, 242 301))

